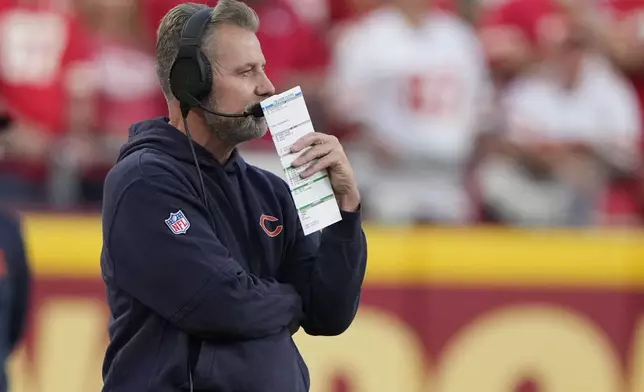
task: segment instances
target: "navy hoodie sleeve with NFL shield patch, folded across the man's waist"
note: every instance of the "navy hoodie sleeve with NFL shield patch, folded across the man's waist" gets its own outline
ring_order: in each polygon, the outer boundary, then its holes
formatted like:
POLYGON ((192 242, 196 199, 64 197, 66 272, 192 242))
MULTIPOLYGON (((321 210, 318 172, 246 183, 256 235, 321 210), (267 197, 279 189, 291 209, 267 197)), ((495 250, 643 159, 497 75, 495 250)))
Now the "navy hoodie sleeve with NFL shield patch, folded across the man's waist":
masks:
POLYGON ((107 231, 105 260, 111 265, 103 265, 104 274, 201 338, 260 338, 299 320, 301 299, 293 286, 246 273, 217 239, 208 216, 172 175, 134 180, 107 231), (165 222, 178 211, 187 220, 182 234, 165 222))

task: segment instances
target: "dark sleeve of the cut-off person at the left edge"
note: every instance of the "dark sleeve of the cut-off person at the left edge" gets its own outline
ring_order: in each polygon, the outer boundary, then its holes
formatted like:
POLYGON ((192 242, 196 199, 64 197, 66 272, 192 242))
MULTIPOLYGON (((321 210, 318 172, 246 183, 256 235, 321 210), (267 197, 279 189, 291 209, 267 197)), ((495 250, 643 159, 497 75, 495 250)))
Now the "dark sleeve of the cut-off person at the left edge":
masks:
POLYGON ((0 249, 5 253, 7 281, 12 291, 9 308, 9 350, 18 344, 25 330, 31 272, 25 255, 24 240, 18 219, 0 218, 0 249))

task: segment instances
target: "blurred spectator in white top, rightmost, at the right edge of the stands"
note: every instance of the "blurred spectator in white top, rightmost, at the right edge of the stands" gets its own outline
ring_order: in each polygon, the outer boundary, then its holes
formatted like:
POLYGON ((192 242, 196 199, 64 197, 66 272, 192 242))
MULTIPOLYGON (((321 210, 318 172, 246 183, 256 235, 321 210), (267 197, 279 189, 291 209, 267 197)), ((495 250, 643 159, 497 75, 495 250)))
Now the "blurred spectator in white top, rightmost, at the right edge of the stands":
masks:
POLYGON ((482 194, 508 223, 589 225, 611 177, 639 162, 640 113, 630 85, 550 5, 502 6, 532 11, 516 26, 538 60, 502 92, 505 133, 480 168, 482 194))

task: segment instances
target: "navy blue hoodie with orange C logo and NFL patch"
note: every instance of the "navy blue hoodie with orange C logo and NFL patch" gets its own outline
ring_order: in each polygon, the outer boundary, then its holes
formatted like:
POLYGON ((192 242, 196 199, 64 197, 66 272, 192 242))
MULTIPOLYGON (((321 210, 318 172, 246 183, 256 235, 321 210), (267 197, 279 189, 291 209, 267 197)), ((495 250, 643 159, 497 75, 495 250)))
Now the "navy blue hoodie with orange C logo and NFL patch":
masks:
POLYGON ((366 268, 360 213, 304 236, 288 186, 235 151, 225 165, 167 118, 144 121, 105 181, 111 310, 103 391, 304 392, 291 336, 351 324, 366 268), (189 371, 189 369, 191 371, 189 371))

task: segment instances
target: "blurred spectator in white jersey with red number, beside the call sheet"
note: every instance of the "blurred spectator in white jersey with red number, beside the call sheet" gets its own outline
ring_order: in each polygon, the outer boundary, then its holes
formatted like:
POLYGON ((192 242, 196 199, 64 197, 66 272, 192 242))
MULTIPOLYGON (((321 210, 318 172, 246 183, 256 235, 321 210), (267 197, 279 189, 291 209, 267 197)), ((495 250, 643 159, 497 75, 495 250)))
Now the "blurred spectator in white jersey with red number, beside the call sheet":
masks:
POLYGON ((488 86, 465 22, 427 0, 392 1, 339 37, 330 86, 336 115, 362 127, 370 153, 356 170, 374 218, 473 218, 465 173, 488 86))

